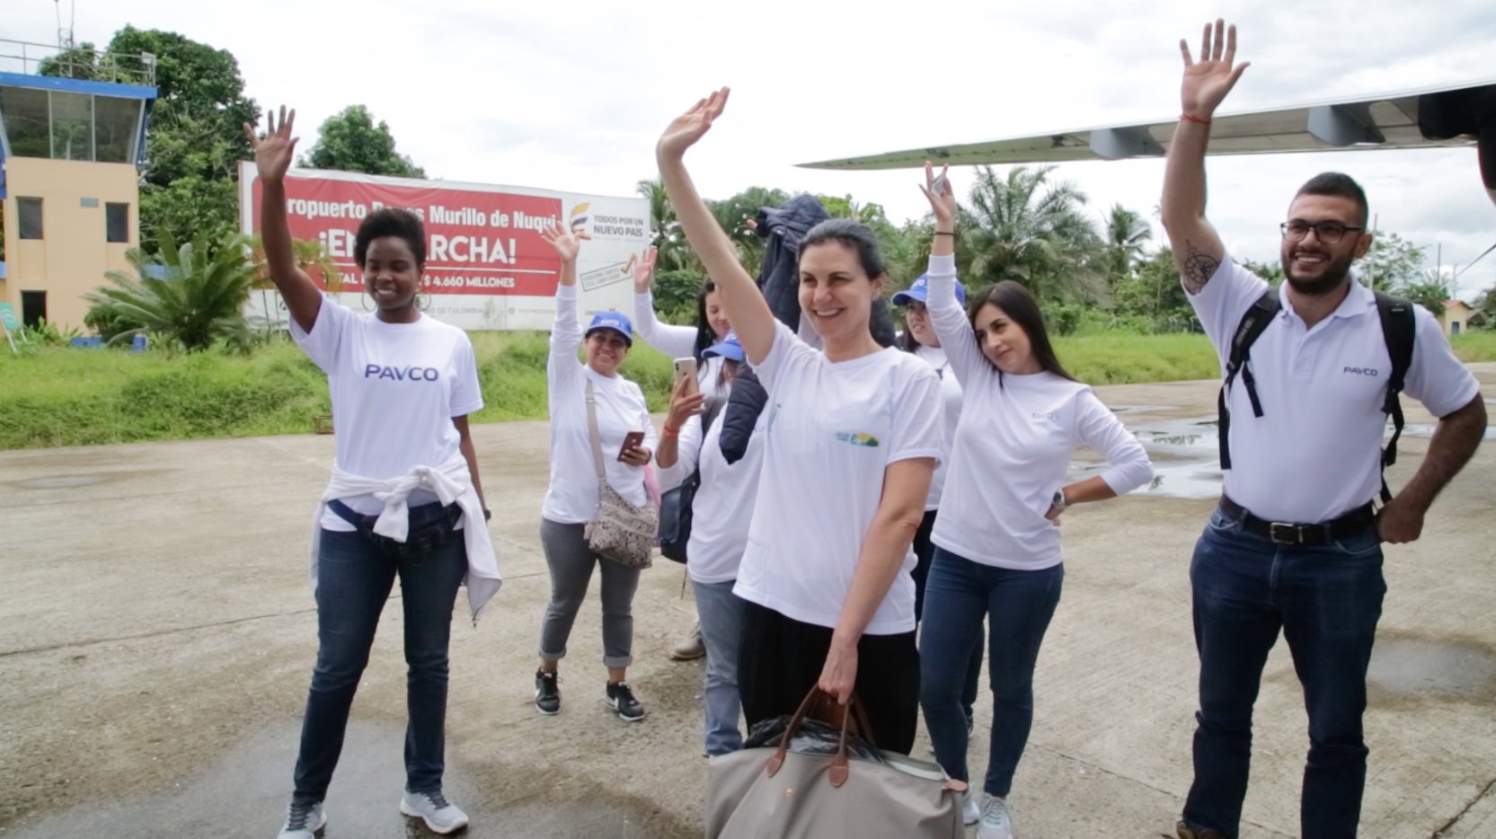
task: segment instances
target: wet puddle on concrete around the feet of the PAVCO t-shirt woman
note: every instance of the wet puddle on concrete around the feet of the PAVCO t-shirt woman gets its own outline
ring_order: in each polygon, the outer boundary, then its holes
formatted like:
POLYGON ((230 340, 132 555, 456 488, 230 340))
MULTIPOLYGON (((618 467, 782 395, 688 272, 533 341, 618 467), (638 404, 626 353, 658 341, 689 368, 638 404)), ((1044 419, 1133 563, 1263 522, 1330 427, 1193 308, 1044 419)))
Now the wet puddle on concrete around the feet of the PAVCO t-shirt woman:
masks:
MULTIPOLYGON (((84 805, 28 827, 0 833, 7 839, 265 839, 274 836, 286 820, 299 734, 299 719, 278 722, 253 734, 215 766, 174 790, 129 802, 84 805)), ((404 739, 402 724, 349 722, 343 757, 328 791, 328 827, 319 833, 320 839, 435 836, 419 820, 399 814, 399 796, 405 782, 401 758, 404 739)), ((537 776, 537 782, 543 785, 545 779, 537 776)), ((603 796, 540 800, 536 794, 525 796, 521 803, 491 802, 485 793, 492 791, 494 785, 482 784, 471 772, 453 766, 450 743, 443 788, 473 820, 465 832, 458 833, 471 839, 655 839, 687 835, 679 826, 661 829, 660 814, 643 802, 603 796)))

